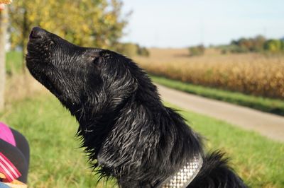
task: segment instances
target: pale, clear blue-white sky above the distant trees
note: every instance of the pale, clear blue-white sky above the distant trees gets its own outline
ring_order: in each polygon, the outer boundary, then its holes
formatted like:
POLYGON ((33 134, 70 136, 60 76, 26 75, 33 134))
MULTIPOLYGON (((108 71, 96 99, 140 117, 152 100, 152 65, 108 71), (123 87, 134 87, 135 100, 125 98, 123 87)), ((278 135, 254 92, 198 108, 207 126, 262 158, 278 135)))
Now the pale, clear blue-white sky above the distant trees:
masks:
POLYGON ((284 37, 284 0, 122 0, 133 11, 122 42, 145 47, 222 45, 284 37))

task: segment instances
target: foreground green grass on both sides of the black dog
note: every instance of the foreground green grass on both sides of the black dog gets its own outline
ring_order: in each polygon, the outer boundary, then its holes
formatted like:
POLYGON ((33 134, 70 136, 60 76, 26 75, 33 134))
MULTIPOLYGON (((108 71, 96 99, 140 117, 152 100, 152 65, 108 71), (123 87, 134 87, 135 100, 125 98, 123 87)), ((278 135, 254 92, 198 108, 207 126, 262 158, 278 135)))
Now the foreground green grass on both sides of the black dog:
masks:
MULTIPOLYGON (((228 153, 231 164, 251 187, 284 187, 283 143, 200 114, 181 113, 209 140, 209 150, 221 148, 228 153)), ((21 131, 31 145, 30 187, 96 187, 97 176, 78 148, 78 124, 55 97, 38 95, 14 102, 0 119, 21 131)), ((102 183, 97 187, 103 187, 102 183)))

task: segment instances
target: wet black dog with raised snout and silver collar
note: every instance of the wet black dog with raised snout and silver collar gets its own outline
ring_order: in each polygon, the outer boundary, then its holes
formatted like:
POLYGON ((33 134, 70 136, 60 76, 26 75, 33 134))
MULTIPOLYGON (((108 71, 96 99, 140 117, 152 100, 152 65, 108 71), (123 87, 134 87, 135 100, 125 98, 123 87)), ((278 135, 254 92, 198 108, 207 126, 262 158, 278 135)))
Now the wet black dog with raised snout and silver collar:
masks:
POLYGON ((200 136, 163 105, 131 59, 33 28, 26 61, 77 118, 82 147, 102 177, 120 187, 246 187, 222 153, 204 155, 200 136))

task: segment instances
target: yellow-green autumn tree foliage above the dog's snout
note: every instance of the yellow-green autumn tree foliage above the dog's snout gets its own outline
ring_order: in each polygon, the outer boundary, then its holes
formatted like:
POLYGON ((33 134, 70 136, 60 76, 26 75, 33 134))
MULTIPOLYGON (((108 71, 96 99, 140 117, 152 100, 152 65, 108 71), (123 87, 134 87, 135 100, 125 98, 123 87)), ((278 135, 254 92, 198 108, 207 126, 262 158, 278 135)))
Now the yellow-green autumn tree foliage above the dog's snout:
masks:
POLYGON ((14 1, 10 7, 11 47, 25 49, 28 33, 38 25, 76 45, 115 49, 126 25, 121 7, 119 0, 14 1))

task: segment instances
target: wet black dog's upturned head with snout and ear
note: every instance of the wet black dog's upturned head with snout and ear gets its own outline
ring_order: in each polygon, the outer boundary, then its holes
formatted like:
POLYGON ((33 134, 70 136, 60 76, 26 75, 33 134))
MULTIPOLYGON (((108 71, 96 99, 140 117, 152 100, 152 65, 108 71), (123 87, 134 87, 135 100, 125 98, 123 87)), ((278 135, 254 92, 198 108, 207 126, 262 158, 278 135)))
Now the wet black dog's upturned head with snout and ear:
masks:
POLYGON ((26 64, 72 113, 84 104, 114 110, 138 86, 133 69, 129 69, 135 66, 139 71, 138 67, 120 54, 78 47, 38 27, 29 36, 26 64))

